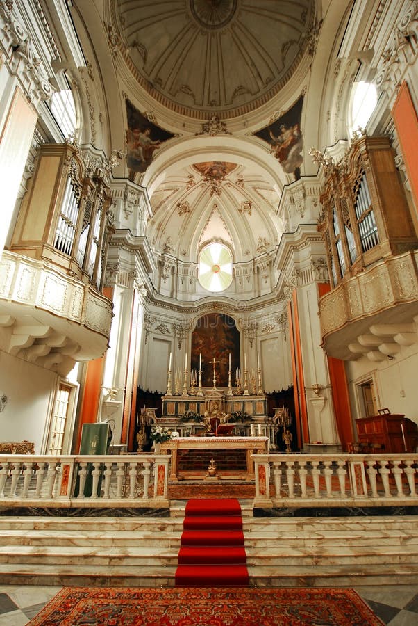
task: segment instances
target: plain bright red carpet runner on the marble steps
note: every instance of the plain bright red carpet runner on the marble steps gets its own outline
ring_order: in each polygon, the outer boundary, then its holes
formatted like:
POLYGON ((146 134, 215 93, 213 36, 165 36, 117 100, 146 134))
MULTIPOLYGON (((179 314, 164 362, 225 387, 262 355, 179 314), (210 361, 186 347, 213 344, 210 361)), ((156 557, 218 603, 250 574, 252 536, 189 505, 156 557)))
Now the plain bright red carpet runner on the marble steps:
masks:
POLYGON ((240 503, 236 499, 189 500, 176 586, 248 584, 240 503))

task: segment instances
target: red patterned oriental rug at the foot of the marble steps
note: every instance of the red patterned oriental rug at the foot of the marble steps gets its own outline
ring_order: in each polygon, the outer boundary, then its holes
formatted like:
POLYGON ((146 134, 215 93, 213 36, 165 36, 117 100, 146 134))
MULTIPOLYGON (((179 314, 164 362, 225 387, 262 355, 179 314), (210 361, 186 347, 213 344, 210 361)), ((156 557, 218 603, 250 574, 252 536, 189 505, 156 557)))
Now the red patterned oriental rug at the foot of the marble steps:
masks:
POLYGON ((381 626, 352 589, 65 587, 31 626, 381 626))

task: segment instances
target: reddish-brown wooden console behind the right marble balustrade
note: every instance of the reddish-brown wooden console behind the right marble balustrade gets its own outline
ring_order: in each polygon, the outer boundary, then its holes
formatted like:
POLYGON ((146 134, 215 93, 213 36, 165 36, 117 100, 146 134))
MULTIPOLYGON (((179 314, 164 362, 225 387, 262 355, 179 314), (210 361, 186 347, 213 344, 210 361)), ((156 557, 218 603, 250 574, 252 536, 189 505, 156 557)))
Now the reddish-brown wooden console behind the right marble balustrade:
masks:
POLYGON ((381 447, 385 452, 415 452, 418 444, 418 426, 412 419, 396 413, 356 419, 358 441, 365 448, 381 447))

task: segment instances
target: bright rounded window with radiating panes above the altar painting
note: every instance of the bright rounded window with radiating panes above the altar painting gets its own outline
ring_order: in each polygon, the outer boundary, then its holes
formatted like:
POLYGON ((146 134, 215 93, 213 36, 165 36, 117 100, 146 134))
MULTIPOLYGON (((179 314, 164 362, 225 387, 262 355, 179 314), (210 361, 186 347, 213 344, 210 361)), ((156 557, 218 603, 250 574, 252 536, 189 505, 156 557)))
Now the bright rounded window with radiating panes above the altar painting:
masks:
POLYGON ((199 282, 208 291, 224 291, 233 279, 232 255, 223 243, 205 246, 199 255, 199 282))

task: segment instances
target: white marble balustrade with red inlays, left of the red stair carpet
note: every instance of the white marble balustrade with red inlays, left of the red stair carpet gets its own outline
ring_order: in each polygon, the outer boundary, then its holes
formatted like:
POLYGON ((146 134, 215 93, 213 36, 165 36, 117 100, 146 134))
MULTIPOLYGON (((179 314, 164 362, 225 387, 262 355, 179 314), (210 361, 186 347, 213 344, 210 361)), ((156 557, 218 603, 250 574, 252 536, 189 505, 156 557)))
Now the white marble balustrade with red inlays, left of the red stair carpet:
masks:
POLYGON ((169 457, 0 455, 1 506, 164 508, 169 457))

